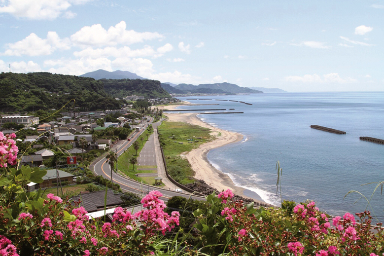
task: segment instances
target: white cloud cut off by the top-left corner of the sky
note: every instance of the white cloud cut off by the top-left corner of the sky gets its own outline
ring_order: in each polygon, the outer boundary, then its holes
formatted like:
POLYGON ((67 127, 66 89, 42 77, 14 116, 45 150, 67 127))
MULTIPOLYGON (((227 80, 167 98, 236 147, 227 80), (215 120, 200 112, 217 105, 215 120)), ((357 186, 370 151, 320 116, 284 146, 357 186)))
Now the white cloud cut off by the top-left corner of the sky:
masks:
MULTIPOLYGON (((1 0, 0 13, 9 13, 17 18, 32 20, 53 20, 70 8, 89 0, 1 0)), ((65 13, 73 17, 73 13, 65 13)))

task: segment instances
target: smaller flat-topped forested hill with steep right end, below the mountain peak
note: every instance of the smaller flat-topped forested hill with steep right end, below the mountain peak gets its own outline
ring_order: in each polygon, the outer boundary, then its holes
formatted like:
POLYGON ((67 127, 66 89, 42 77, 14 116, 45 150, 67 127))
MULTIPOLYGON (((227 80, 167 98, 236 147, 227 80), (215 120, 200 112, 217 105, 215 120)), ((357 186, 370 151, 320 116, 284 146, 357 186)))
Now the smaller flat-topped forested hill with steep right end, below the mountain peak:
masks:
POLYGON ((145 98, 172 98, 164 90, 160 81, 148 79, 100 79, 104 89, 112 97, 123 98, 129 95, 144 96, 145 98))

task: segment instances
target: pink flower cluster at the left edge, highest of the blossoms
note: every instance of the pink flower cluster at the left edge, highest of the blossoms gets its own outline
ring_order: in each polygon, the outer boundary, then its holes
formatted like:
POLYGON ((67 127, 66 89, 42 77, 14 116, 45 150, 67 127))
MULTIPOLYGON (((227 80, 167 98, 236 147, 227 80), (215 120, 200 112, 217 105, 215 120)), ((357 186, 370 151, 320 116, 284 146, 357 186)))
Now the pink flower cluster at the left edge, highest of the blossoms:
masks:
POLYGON ((13 140, 16 138, 14 133, 5 135, 0 132, 0 167, 7 167, 8 164, 15 165, 17 152, 19 149, 16 146, 16 142, 13 140))

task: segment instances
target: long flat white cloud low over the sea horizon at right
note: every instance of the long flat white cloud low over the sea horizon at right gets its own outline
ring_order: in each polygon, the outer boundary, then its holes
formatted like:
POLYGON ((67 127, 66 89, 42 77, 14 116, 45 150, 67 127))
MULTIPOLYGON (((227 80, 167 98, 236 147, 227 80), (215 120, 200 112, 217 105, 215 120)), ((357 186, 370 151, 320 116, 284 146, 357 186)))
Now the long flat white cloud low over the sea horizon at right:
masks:
POLYGON ((341 78, 338 73, 329 73, 323 74, 322 77, 318 74, 306 74, 303 76, 291 75, 286 76, 285 81, 303 83, 351 83, 357 80, 351 77, 341 78))

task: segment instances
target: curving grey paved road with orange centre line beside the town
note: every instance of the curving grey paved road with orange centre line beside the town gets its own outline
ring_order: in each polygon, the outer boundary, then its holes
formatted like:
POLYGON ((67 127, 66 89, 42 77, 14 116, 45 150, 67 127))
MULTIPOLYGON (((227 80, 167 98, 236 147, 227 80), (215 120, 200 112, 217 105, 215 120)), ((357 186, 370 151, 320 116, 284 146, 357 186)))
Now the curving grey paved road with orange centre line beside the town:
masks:
MULTIPOLYGON (((152 122, 152 120, 153 120, 153 118, 151 118, 151 122, 152 122)), ((156 130, 156 127, 154 127, 154 128, 156 130)), ((132 139, 131 141, 120 142, 119 145, 115 145, 117 150, 115 148, 112 148, 111 150, 116 150, 117 155, 121 155, 124 152, 124 150, 127 149, 129 146, 131 146, 137 140, 137 138, 139 138, 139 136, 143 132, 144 132, 144 130, 141 130, 140 132, 135 133, 134 137, 131 138, 132 139)), ((108 180, 111 177, 111 170, 110 170, 109 164, 106 162, 105 158, 102 158, 99 161, 97 161, 97 163, 93 167, 93 171, 96 175, 102 175, 104 178, 106 178, 108 180)), ((190 197, 190 194, 175 192, 173 190, 170 190, 171 188, 162 189, 160 187, 142 184, 142 183, 127 179, 127 178, 125 178, 119 174, 114 173, 114 172, 112 173, 112 179, 113 179, 113 183, 118 183, 120 185, 121 189, 126 190, 126 191, 130 191, 130 192, 133 192, 133 193, 136 193, 139 195, 140 194, 146 194, 147 191, 150 191, 150 190, 158 190, 163 194, 162 199, 165 201, 167 201, 169 198, 171 198, 173 196, 183 196, 185 198, 190 197)), ((193 199, 205 200, 205 198, 202 196, 193 195, 191 197, 193 199)))

